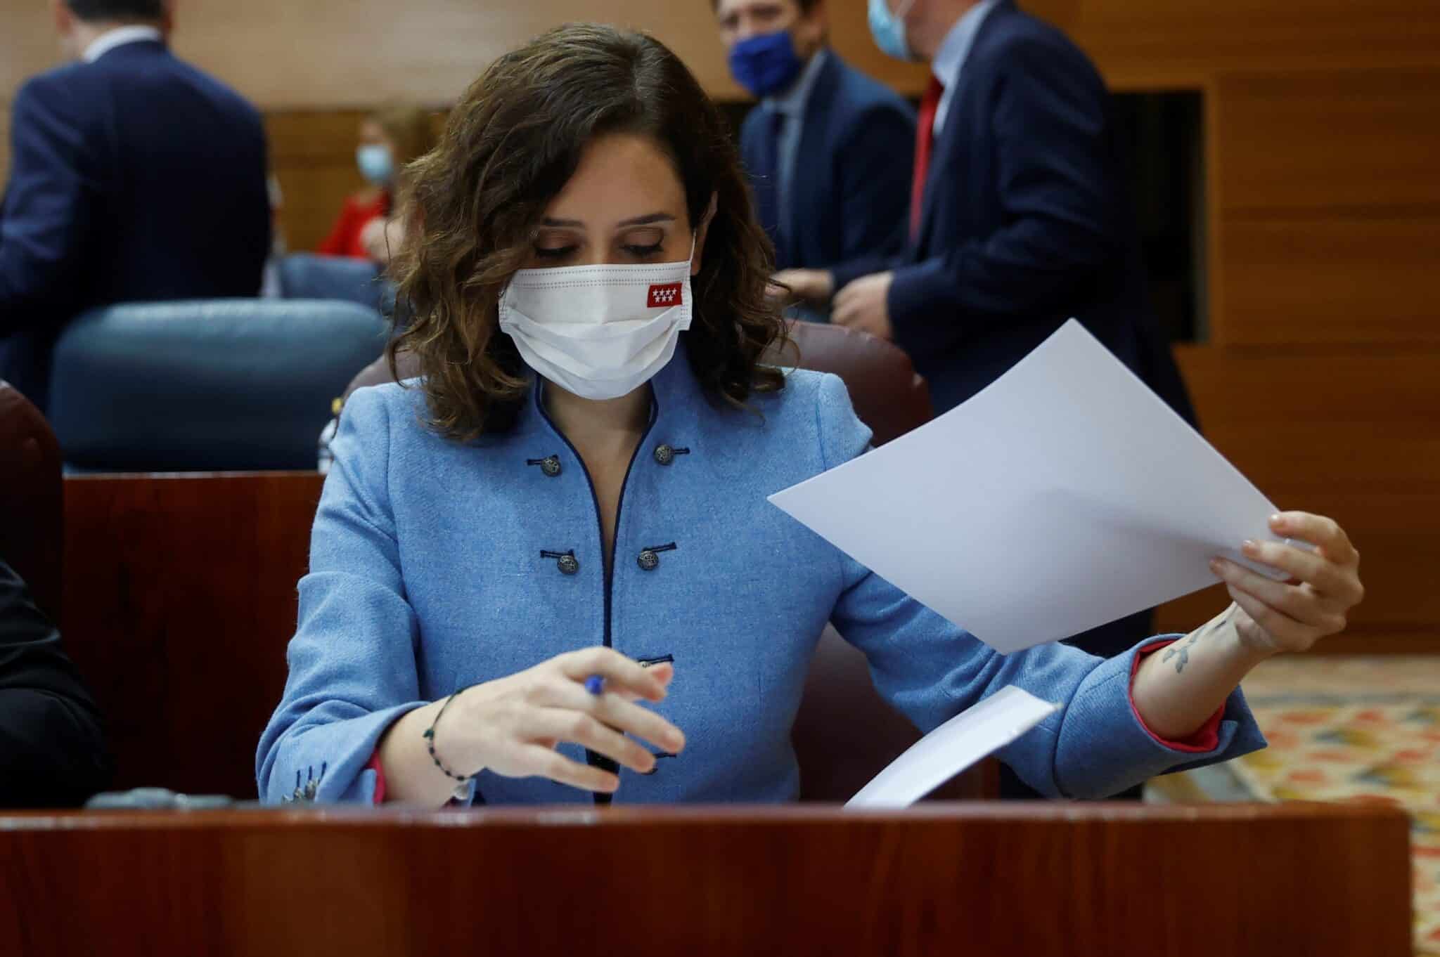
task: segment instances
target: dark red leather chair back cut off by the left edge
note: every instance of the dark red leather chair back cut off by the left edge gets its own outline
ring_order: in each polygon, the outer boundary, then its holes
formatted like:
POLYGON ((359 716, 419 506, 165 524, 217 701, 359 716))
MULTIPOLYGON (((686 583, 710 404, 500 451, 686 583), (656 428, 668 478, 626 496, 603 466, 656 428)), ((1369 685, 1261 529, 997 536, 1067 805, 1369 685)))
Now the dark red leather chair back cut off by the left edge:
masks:
POLYGON ((60 620, 60 449, 45 416, 0 381, 0 558, 52 622, 60 620))

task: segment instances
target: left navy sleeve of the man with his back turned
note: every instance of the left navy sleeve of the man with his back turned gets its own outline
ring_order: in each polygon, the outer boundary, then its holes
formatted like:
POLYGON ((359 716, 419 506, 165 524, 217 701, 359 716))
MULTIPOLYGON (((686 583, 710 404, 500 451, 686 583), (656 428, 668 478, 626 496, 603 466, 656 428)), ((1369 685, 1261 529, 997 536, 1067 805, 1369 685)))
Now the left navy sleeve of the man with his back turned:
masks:
POLYGON ((68 315, 98 191, 75 98, 30 81, 14 99, 10 184, 0 217, 0 338, 20 317, 68 315))

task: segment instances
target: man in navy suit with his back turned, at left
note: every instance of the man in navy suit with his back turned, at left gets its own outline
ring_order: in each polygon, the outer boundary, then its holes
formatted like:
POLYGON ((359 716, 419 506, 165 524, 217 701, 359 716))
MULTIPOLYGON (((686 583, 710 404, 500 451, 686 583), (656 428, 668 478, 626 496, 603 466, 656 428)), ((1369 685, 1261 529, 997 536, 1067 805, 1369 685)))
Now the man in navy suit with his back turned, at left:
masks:
POLYGON ((253 296, 265 131, 166 46, 167 0, 52 0, 79 62, 14 98, 0 206, 0 378, 42 409, 56 335, 111 302, 253 296))

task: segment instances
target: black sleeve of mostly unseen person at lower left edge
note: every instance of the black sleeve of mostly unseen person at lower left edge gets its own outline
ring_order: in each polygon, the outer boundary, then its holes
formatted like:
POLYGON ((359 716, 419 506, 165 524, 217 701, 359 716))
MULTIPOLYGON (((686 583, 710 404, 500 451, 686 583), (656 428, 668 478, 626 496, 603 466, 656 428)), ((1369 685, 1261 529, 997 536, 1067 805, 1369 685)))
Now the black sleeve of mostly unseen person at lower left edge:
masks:
POLYGON ((79 804, 108 779, 99 711, 59 632, 0 561, 0 807, 79 804))

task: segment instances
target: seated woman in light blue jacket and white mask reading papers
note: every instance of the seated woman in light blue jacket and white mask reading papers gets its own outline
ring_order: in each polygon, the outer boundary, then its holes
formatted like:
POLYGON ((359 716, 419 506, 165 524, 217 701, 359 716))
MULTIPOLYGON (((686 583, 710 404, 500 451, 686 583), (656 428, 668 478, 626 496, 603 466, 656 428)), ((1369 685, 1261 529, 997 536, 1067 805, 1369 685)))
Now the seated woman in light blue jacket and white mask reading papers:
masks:
POLYGON ((870 432, 838 378, 760 364, 766 240, 723 119, 649 37, 500 58, 413 183, 392 348, 423 374, 341 416, 268 802, 789 800, 827 622, 922 730, 1011 684, 1063 702, 1001 757, 1104 796, 1261 747, 1240 678, 1359 600, 1344 532, 1290 512, 1274 531, 1316 553, 1247 554, 1292 581, 1217 563, 1234 604, 1178 642, 1002 656, 773 508, 870 432))

